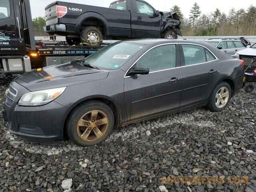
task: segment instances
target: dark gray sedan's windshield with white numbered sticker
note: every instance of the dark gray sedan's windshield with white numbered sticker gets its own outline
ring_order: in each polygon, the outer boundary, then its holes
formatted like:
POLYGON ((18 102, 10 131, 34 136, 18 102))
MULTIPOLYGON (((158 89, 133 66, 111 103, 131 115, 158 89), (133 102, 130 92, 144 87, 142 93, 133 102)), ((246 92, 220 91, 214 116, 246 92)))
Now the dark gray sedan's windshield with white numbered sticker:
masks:
POLYGON ((144 46, 125 42, 110 44, 85 58, 84 65, 110 70, 118 69, 144 46))

